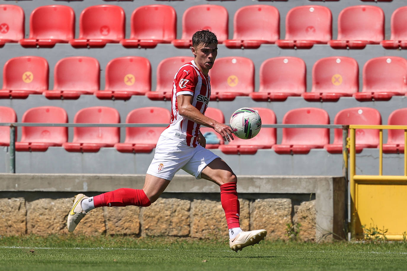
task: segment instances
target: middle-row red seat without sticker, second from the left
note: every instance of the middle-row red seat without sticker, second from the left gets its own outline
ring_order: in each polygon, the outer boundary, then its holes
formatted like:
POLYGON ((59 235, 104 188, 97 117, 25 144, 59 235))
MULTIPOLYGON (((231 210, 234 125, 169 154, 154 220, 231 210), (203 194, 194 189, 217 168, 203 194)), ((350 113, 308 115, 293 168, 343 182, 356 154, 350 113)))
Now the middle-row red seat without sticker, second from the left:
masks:
POLYGON ((100 86, 100 67, 97 59, 71 56, 55 64, 54 90, 44 91, 48 99, 78 99, 81 94, 94 94, 100 86))

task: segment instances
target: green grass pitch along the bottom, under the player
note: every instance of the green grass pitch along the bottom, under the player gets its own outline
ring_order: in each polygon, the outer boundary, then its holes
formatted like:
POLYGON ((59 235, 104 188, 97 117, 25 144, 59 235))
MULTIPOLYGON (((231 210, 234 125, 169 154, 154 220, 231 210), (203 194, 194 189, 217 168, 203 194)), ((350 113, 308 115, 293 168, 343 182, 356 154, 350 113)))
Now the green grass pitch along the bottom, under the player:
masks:
POLYGON ((0 237, 0 270, 406 270, 407 243, 262 241, 131 236, 0 237))

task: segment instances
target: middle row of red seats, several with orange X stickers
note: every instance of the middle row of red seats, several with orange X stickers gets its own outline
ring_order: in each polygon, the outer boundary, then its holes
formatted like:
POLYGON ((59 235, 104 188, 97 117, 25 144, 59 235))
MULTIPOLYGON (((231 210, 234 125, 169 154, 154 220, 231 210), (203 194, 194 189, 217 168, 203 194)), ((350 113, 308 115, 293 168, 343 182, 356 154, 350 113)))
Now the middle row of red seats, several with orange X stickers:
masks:
MULTIPOLYGON (((141 56, 112 59, 105 69, 105 90, 100 90, 100 65, 88 56, 59 60, 54 68, 53 90, 48 90, 49 67, 39 56, 9 59, 3 68, 0 98, 27 98, 42 94, 48 99, 78 99, 96 95, 99 99, 129 100, 147 95, 151 100, 171 100, 174 74, 192 56, 162 60, 157 67, 157 88, 151 91, 151 64, 141 56)), ((231 101, 250 96, 255 101, 284 101, 302 96, 307 101, 337 101, 353 96, 359 101, 390 100, 407 95, 407 59, 380 56, 363 66, 363 88, 359 91, 359 66, 347 56, 330 56, 313 65, 312 89, 306 92, 306 65, 300 58, 280 56, 265 60, 259 69, 260 86, 254 91, 254 63, 238 56, 221 57, 210 70, 211 100, 231 101)))

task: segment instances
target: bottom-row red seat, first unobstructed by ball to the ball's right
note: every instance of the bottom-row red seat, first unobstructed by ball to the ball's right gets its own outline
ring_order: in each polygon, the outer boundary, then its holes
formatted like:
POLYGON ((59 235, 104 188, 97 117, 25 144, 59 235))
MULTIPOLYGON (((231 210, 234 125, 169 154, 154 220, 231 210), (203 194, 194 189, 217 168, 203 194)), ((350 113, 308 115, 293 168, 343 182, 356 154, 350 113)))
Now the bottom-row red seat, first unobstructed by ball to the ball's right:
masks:
MULTIPOLYGON (((329 115, 321 108, 297 108, 284 115, 282 124, 329 124, 329 115)), ((281 144, 272 148, 278 154, 307 154, 328 143, 328 128, 282 128, 281 144)))

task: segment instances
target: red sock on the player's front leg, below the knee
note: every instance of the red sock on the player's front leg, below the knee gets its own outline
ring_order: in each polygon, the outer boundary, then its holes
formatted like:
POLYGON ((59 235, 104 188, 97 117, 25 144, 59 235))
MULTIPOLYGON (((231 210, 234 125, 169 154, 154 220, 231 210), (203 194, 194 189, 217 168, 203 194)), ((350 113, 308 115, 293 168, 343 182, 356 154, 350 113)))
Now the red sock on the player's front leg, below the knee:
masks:
POLYGON ((237 199, 236 182, 227 182, 221 186, 221 203, 225 210, 228 228, 239 228, 240 203, 237 199))

